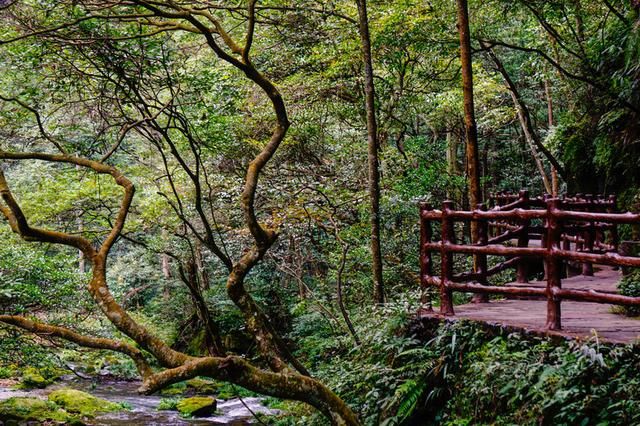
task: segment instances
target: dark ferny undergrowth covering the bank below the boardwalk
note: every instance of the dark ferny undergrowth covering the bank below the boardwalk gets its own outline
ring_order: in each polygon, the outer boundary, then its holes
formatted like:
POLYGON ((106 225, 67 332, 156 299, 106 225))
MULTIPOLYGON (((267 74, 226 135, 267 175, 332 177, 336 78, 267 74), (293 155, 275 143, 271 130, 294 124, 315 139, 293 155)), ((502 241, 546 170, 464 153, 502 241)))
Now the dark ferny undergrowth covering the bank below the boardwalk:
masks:
MULTIPOLYGON (((467 321, 407 327, 411 308, 354 315, 360 347, 322 321, 298 319, 300 354, 365 424, 640 423, 637 346, 552 341, 467 321)), ((302 405, 279 408, 290 415, 274 424, 325 424, 302 405)))

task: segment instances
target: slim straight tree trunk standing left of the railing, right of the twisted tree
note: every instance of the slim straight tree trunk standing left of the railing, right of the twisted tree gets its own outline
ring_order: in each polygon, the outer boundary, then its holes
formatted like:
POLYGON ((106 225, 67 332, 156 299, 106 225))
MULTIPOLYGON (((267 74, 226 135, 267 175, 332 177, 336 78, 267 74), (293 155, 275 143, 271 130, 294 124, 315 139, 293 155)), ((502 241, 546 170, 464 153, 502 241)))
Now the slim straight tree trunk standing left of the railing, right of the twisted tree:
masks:
POLYGON ((369 146, 369 198, 371 202, 371 269, 373 275, 373 299, 384 303, 384 283, 382 281, 382 250, 380 248, 380 170, 378 168, 378 123, 375 110, 375 86, 373 81, 373 61, 371 59, 371 37, 367 1, 358 3, 358 26, 364 62, 364 93, 367 110, 367 141, 369 146))

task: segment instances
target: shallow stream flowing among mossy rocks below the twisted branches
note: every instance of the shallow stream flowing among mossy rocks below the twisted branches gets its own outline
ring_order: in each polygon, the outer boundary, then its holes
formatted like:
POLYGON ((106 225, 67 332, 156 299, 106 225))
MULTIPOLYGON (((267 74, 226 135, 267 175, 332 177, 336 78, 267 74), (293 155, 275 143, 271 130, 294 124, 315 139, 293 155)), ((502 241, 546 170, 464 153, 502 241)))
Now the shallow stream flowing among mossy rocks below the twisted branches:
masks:
POLYGON ((73 388, 88 392, 91 395, 106 399, 112 402, 127 403, 131 409, 116 413, 105 413, 86 422, 87 425, 114 426, 114 425, 250 425, 257 423, 251 412, 245 407, 246 404, 254 413, 266 415, 277 415, 279 411, 265 407, 262 398, 233 398, 229 400, 218 399, 216 414, 211 417, 199 417, 185 419, 180 417, 177 411, 158 411, 156 407, 160 400, 166 397, 160 395, 140 395, 136 389, 140 382, 123 381, 101 381, 93 388, 92 382, 88 380, 63 380, 46 389, 35 389, 29 391, 15 390, 0 387, 0 401, 12 397, 37 397, 46 399, 47 395, 59 388, 73 388), (244 402, 244 404, 243 404, 244 402))

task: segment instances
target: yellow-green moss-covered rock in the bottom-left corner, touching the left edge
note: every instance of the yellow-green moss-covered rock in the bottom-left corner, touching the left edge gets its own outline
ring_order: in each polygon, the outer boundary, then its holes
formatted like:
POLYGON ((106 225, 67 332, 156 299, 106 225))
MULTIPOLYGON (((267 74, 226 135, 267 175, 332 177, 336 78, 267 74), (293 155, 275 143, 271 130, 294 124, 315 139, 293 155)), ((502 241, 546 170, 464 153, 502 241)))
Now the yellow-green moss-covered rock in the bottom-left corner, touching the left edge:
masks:
POLYGON ((0 402, 0 423, 60 422, 82 425, 76 417, 60 409, 55 403, 38 398, 9 398, 0 402))

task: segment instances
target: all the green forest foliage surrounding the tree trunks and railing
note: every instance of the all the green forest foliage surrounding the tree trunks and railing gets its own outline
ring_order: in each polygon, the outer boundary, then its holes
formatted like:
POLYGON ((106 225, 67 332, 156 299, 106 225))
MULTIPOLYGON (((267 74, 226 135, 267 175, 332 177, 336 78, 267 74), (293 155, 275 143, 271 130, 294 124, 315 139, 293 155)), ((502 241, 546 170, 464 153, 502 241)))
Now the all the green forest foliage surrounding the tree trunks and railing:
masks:
MULTIPOLYGON (((426 338, 406 328, 420 299, 416 204, 438 206, 445 198, 461 207, 468 203, 451 1, 369 2, 389 300, 382 308, 370 306, 370 208, 362 64, 351 22, 355 8, 347 1, 324 2, 322 8, 315 3, 265 1, 251 55, 281 89, 292 124, 260 176, 255 200, 258 220, 278 229, 279 238, 246 278, 276 331, 367 424, 421 418, 434 424, 637 421, 637 377, 619 360, 626 357, 629 365, 637 365, 627 349, 618 354, 597 345, 495 336, 468 324, 442 326, 426 338), (337 308, 339 279, 362 340, 358 347, 337 308), (605 374, 615 388, 604 383, 605 374)), ((565 166, 569 190, 618 192, 623 205, 635 202, 640 26, 628 2, 609 3, 614 10, 604 2, 470 2, 485 194, 524 187, 538 194, 542 184, 510 94, 478 39, 497 42, 494 53, 530 109, 534 130, 565 166), (545 87, 555 125, 547 124, 545 87)), ((231 258, 246 252, 250 235, 238 199, 247 164, 269 140, 269 102, 241 72, 202 48, 197 35, 149 31, 153 20, 118 20, 127 5, 104 9, 108 20, 80 19, 95 12, 85 7, 32 1, 1 8, 7 21, 0 28, 2 94, 37 110, 45 132, 69 153, 98 159, 118 142, 108 163, 130 177, 137 192, 126 238, 110 253, 108 284, 131 318, 174 348, 201 355, 204 328, 193 303, 196 289, 226 349, 258 359, 253 336, 227 297, 228 271, 202 247, 209 237, 203 238, 201 218, 209 218, 211 238, 231 258), (77 19, 77 25, 59 26, 77 19), (37 28, 60 30, 4 42, 37 28), (142 36, 147 32, 151 35, 142 36), (81 39, 92 42, 71 41, 81 39), (140 108, 132 93, 141 93, 152 106, 140 108), (182 120, 186 125, 180 129, 182 120), (136 128, 123 132, 122 126, 132 123, 136 128), (159 141, 159 129, 166 140, 159 141), (196 183, 184 165, 196 170, 196 183), (168 260, 160 259, 163 255, 168 260), (180 276, 189 267, 197 275, 187 277, 195 281, 191 291, 180 276)), ((237 10, 213 9, 233 37, 244 28, 237 10)), ((0 149, 52 152, 51 138, 40 134, 32 112, 19 103, 0 102, 0 149)), ((110 229, 121 197, 110 177, 42 162, 0 167, 32 225, 82 233, 93 242, 110 229)), ((549 167, 546 160, 544 167, 549 167)), ((631 233, 631 228, 621 231, 631 233)), ((7 226, 0 239, 1 313, 127 340, 88 303, 88 276, 77 272, 75 249, 26 244, 7 226)), ((455 262, 460 270, 469 269, 468 256, 455 262)), ((492 284, 512 281, 509 274, 493 277, 492 284)), ((640 295, 639 280, 624 281, 623 294, 640 295)), ((468 299, 456 294, 457 302, 468 299)), ((45 372, 58 356, 77 361, 90 374, 137 376, 134 364, 121 355, 41 343, 0 328, 0 377, 21 369, 30 386, 45 385, 52 379, 45 372), (13 365, 17 368, 2 367, 13 365)), ((198 381, 163 394, 184 392, 215 392, 225 399, 253 395, 229 384, 198 381)), ((170 408, 178 404, 163 401, 170 408)), ((321 422, 307 407, 287 407, 298 419, 279 419, 283 424, 321 422)))

